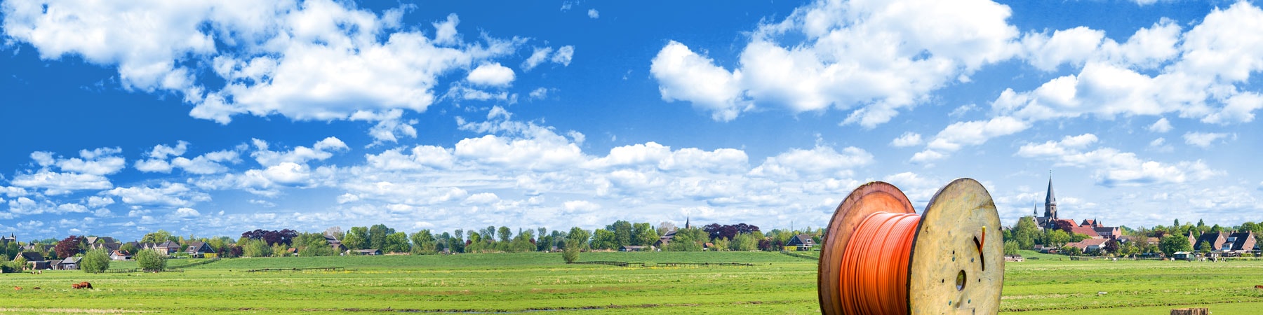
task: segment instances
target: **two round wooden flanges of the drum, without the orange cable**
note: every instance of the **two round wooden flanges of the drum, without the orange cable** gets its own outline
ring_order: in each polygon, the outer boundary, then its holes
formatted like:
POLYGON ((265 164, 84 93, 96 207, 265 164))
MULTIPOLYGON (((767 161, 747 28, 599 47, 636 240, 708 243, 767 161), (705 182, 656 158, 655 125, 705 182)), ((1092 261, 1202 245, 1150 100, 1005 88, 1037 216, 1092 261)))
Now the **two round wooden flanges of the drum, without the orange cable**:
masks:
MULTIPOLYGON (((842 314, 842 253, 860 222, 877 212, 914 213, 903 192, 882 181, 856 188, 834 212, 816 280, 822 314, 842 314)), ((908 262, 908 314, 997 314, 1003 284, 1004 239, 995 203, 976 180, 954 180, 935 193, 917 224, 908 262)))

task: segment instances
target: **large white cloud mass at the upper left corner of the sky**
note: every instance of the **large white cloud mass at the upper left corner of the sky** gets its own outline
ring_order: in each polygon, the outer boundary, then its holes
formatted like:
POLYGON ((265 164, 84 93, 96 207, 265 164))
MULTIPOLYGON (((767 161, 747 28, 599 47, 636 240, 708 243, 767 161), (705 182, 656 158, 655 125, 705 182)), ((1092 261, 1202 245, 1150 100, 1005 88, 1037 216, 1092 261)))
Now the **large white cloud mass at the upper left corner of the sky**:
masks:
MULTIPOLYGON (((177 93, 193 106, 191 116, 220 123, 236 115, 328 121, 357 111, 423 112, 446 74, 510 57, 528 40, 464 40, 455 14, 427 30, 403 24, 407 8, 374 13, 332 0, 15 0, 0 11, 5 34, 40 58, 110 67, 125 88, 177 93)), ((552 59, 568 64, 572 52, 552 59)))

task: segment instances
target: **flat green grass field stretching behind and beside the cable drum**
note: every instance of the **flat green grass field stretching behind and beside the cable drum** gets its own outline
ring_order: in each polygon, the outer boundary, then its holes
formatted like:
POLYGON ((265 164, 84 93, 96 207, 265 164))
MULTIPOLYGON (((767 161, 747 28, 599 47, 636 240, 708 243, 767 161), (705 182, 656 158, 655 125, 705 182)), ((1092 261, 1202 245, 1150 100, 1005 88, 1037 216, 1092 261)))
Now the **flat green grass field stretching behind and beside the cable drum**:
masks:
MULTIPOLYGON (((1013 314, 1215 314, 1263 310, 1263 261, 1058 261, 1005 266, 1013 314), (1098 294, 1105 292, 1105 294, 1098 294)), ((581 261, 743 262, 754 266, 566 265, 561 253, 234 258, 183 272, 45 271, 0 276, 0 312, 479 311, 818 314, 816 263, 773 252, 584 253, 581 261), (248 272, 260 268, 341 267, 248 272), (96 290, 71 290, 91 281, 96 290), (32 290, 33 287, 42 290, 32 290)), ((196 260, 173 260, 182 266, 196 260)), ((111 270, 135 267, 112 263, 111 270)))

